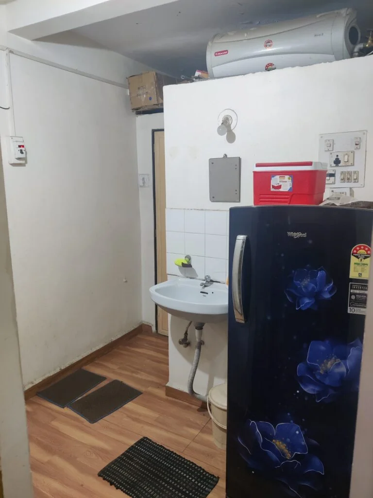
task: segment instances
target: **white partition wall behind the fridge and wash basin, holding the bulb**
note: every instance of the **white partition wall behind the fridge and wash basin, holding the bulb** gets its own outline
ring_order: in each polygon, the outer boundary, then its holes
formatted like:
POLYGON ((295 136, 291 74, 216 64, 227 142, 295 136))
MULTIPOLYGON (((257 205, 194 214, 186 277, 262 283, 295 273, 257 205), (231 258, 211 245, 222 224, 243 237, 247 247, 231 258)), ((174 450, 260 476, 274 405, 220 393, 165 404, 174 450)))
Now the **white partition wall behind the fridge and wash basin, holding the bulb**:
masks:
MULTIPOLYGON (((253 203, 256 162, 318 160, 319 135, 368 130, 366 186, 358 199, 373 199, 373 57, 289 68, 165 88, 166 194, 168 209, 227 210, 237 204, 209 200, 208 160, 242 158, 241 205, 253 203), (217 134, 225 109, 238 114, 236 141, 217 134)), ((188 247, 185 247, 188 251, 188 247)), ((192 352, 180 348, 185 321, 171 319, 169 385, 187 390, 192 352)), ((205 394, 226 373, 226 334, 205 327, 204 364, 196 390, 205 394), (225 341, 225 338, 224 338, 225 341), (207 348, 209 352, 207 353, 207 348)))

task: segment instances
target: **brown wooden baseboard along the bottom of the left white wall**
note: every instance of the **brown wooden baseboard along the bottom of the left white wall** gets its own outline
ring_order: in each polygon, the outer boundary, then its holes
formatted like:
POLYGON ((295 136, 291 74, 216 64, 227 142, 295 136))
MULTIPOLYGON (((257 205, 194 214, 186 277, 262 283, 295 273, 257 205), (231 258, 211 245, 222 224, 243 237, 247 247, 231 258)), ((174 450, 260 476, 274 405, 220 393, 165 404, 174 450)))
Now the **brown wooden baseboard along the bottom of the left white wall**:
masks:
MULTIPOLYGON (((41 380, 37 384, 32 385, 28 389, 24 391, 24 398, 27 401, 27 399, 32 398, 33 396, 36 395, 37 392, 41 391, 42 389, 46 389, 50 385, 54 384, 58 380, 61 380, 62 378, 66 377, 67 375, 70 375, 70 373, 73 373, 83 367, 86 367, 90 363, 94 362, 94 360, 97 360, 103 355, 106 355, 110 351, 112 351, 114 348, 117 346, 121 346, 125 342, 129 341, 132 339, 132 337, 137 336, 141 332, 149 333, 152 332, 152 328, 150 325, 145 325, 141 324, 135 329, 131 330, 127 334, 124 334, 124 336, 119 337, 118 339, 115 339, 114 341, 111 341, 108 344, 105 344, 105 346, 102 346, 102 348, 97 349, 96 351, 93 351, 89 355, 85 356, 84 358, 81 358, 77 362, 73 363, 72 365, 69 365, 68 367, 60 370, 59 372, 53 373, 53 375, 50 375, 49 377, 41 380)), ((1 498, 1 495, 0 495, 1 498)))

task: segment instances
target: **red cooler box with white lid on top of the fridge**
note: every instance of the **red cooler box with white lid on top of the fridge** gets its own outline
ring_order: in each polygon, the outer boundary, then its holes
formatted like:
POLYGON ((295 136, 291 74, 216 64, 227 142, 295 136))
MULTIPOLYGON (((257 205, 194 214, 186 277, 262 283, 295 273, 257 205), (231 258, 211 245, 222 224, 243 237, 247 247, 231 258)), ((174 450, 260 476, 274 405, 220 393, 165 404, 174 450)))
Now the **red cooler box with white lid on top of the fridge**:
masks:
POLYGON ((322 162, 261 162, 254 170, 254 205, 321 204, 328 165, 322 162))

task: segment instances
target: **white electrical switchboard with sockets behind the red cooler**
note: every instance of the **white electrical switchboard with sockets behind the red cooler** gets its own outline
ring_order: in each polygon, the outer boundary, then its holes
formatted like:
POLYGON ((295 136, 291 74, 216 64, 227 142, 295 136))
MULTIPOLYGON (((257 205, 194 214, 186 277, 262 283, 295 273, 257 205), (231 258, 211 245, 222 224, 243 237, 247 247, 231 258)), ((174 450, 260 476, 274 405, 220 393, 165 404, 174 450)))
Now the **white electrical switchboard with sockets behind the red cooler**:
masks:
POLYGON ((328 164, 326 186, 364 187, 366 154, 367 130, 320 135, 319 161, 328 164))

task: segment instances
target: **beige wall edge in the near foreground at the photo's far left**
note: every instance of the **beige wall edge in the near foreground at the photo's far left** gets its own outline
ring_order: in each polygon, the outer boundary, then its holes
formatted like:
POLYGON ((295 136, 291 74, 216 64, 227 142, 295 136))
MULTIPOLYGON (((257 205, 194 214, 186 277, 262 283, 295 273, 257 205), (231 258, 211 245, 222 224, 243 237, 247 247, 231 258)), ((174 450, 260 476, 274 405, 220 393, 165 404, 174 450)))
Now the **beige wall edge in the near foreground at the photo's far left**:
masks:
MULTIPOLYGON (((0 154, 0 460, 6 498, 31 498, 26 411, 0 154)), ((1 477, 0 477, 1 480, 1 477)), ((1 482, 0 482, 1 489, 1 482)), ((2 496, 2 494, 1 494, 2 496)))

